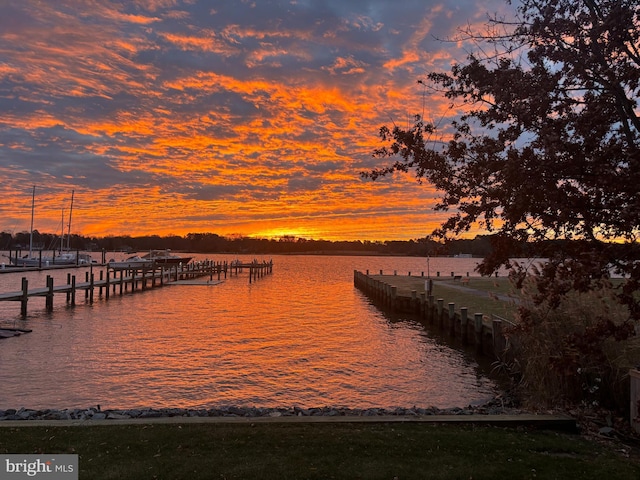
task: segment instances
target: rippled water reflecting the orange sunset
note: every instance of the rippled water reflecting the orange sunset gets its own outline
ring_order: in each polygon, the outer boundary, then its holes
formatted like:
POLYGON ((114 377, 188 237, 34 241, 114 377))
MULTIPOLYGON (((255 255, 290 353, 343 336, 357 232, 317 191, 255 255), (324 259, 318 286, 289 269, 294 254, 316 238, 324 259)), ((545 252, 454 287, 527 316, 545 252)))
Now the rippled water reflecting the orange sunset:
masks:
MULTIPOLYGON (((354 269, 465 274, 476 260, 271 258, 273 274, 251 285, 244 273, 92 305, 78 295, 75 308, 58 295, 51 314, 34 298, 26 320, 18 303, 0 303, 3 325, 33 329, 0 340, 0 408, 444 408, 496 392, 472 356, 390 318, 353 286, 354 269)), ((19 290, 23 275, 0 275, 0 292, 19 290)), ((56 284, 66 275, 56 272, 56 284)), ((46 273, 28 277, 30 287, 45 285, 46 273)))

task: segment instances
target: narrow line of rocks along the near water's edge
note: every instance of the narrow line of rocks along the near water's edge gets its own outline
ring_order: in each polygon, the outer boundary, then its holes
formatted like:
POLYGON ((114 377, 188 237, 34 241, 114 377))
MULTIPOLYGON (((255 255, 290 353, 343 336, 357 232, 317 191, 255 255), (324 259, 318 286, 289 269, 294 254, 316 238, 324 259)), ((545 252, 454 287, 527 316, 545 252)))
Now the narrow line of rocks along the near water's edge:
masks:
POLYGON ((428 416, 428 415, 501 415, 517 414, 522 411, 507 407, 501 401, 464 408, 261 408, 261 407, 220 407, 209 409, 190 408, 132 408, 126 410, 102 410, 100 405, 89 408, 63 410, 9 408, 0 410, 3 420, 125 420, 160 417, 310 417, 310 416, 428 416))

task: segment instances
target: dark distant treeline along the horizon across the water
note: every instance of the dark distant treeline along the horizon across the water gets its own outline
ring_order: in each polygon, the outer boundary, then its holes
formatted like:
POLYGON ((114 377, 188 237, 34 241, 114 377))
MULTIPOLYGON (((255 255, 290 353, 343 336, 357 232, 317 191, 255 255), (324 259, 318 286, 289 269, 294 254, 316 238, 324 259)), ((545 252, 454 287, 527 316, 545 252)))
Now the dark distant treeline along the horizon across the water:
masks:
MULTIPOLYGON (((29 248, 29 232, 0 233, 0 250, 26 250, 29 248)), ((428 238, 393 241, 329 241, 310 240, 286 236, 277 239, 251 238, 244 236, 223 237, 215 233, 189 233, 184 237, 170 235, 148 235, 140 237, 84 237, 71 235, 61 239, 48 233, 33 232, 33 245, 37 249, 56 250, 60 245, 71 250, 143 252, 171 249, 193 253, 238 253, 238 254, 351 254, 351 255, 407 255, 407 256, 453 256, 473 255, 484 257, 492 253, 490 235, 478 235, 473 239, 450 240, 444 243, 428 238)), ((562 241, 544 245, 523 244, 518 256, 548 256, 550 250, 562 248, 562 241), (551 244, 551 245, 550 245, 551 244)))

